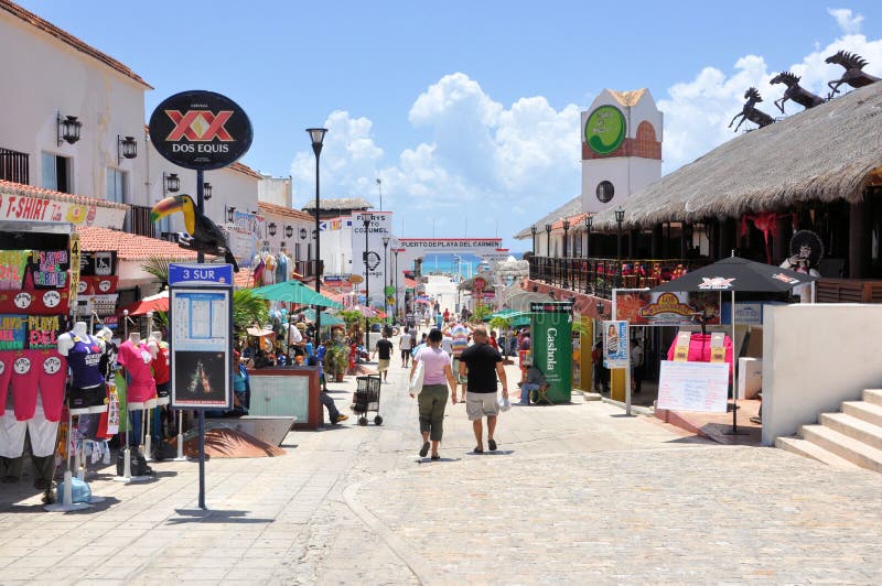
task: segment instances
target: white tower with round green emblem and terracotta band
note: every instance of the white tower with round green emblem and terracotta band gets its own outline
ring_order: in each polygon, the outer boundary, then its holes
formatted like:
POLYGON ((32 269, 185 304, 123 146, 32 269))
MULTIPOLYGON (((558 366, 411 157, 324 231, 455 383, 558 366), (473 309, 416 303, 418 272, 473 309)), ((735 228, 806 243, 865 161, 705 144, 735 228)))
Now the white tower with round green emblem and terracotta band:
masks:
POLYGON ((662 177, 663 115, 649 90, 604 89, 582 112, 582 211, 627 205, 662 177))

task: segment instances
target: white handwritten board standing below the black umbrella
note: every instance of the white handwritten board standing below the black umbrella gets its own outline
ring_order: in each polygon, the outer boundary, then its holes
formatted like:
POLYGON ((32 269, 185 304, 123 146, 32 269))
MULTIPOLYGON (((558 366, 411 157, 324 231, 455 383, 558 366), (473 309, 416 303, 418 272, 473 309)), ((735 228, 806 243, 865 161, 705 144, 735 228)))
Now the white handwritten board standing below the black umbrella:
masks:
POLYGON ((662 361, 656 409, 725 413, 729 363, 662 361))

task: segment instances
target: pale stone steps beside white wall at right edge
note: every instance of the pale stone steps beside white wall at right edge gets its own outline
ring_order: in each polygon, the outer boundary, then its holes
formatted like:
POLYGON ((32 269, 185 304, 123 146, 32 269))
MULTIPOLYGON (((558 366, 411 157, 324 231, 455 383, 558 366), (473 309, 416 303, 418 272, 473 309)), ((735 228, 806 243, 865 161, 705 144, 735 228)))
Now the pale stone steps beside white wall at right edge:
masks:
POLYGON ((867 389, 863 401, 843 401, 839 413, 821 413, 775 446, 837 468, 882 473, 882 389, 867 389))

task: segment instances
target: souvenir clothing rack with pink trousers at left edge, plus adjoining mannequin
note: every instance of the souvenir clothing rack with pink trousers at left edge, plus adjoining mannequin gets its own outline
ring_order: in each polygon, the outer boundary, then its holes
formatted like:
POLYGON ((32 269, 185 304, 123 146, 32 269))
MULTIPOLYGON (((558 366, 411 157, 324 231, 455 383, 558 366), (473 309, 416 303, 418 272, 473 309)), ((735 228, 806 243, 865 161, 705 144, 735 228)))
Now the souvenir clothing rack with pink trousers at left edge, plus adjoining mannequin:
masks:
MULTIPOLYGON (((45 490, 49 503, 54 500, 51 487, 60 435, 76 440, 74 415, 78 427, 92 425, 80 421, 88 419, 83 414, 107 411, 104 380, 90 372, 105 347, 84 338, 84 322, 72 328, 68 319, 80 260, 72 230, 69 224, 0 223, 0 477, 4 482, 19 481, 22 459, 30 453, 34 488, 45 490), (86 355, 95 359, 85 360, 86 355)), ((75 467, 72 443, 65 440, 62 445, 66 471, 58 507, 87 507, 88 495, 80 495, 79 503, 72 500, 72 476, 80 458, 75 467)))

